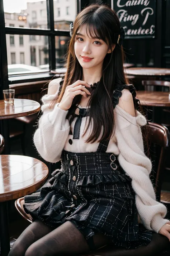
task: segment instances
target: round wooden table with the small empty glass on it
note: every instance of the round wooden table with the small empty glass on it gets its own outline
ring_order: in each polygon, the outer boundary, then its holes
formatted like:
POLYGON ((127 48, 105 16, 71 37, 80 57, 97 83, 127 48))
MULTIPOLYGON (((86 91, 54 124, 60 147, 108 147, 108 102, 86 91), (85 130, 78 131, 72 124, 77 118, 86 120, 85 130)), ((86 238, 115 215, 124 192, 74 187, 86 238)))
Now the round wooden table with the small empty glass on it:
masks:
POLYGON ((14 99, 14 104, 5 104, 4 100, 0 100, 1 133, 5 139, 4 154, 10 154, 9 125, 6 119, 28 116, 39 112, 40 108, 40 104, 35 100, 14 99))

